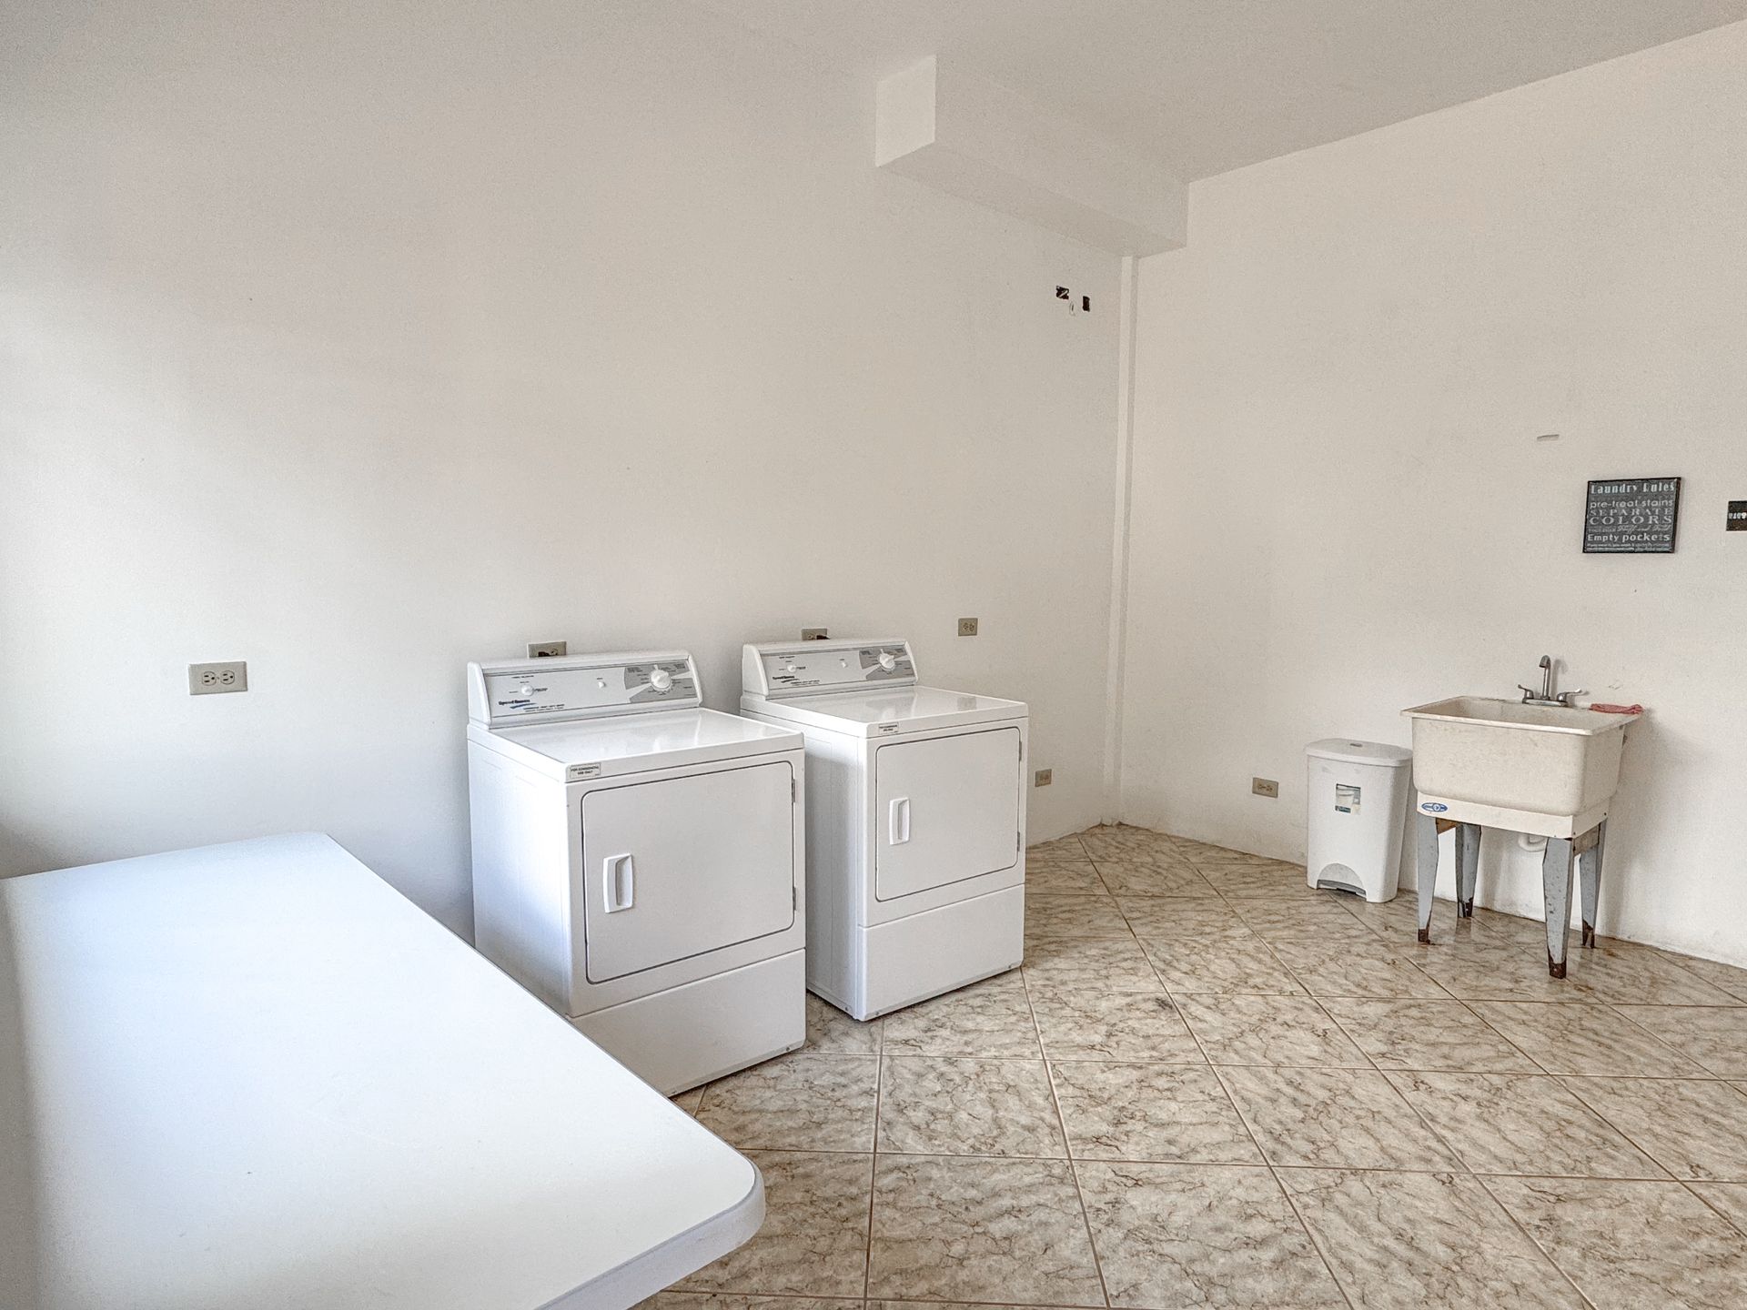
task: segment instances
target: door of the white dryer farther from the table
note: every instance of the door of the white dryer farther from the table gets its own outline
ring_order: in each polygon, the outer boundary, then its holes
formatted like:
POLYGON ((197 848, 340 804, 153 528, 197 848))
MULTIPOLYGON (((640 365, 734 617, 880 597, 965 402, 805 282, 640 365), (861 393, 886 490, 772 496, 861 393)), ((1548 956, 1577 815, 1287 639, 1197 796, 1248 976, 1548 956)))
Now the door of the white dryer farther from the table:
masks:
POLYGON ((874 898, 908 896, 1019 863, 1019 728, 874 751, 874 898))

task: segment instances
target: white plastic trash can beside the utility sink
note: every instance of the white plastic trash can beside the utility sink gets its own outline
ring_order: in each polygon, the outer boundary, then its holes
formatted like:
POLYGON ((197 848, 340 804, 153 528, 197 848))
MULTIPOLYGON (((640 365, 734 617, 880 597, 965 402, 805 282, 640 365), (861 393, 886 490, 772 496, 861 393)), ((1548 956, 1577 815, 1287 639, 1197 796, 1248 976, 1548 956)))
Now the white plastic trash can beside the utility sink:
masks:
POLYGON ((1413 751, 1329 737, 1305 746, 1310 765, 1309 854, 1312 887, 1391 901, 1401 868, 1413 751))

